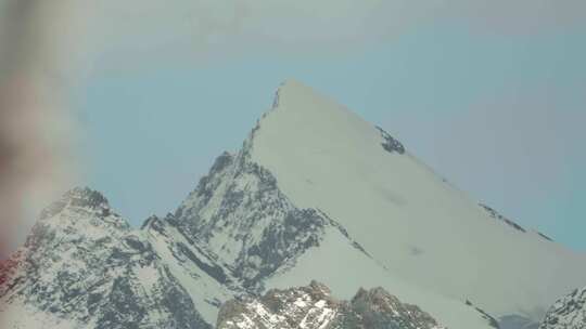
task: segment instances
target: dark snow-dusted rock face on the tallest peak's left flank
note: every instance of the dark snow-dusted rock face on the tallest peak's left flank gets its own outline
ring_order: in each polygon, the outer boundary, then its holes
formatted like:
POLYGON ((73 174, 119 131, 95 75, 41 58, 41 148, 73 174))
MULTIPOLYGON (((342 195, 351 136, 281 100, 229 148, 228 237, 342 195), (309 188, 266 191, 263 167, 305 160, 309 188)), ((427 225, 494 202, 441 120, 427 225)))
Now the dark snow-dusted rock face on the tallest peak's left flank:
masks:
POLYGON ((319 246, 332 221, 289 200, 272 174, 250 159, 251 139, 235 156, 221 155, 166 220, 213 249, 245 288, 262 290, 264 278, 319 246))

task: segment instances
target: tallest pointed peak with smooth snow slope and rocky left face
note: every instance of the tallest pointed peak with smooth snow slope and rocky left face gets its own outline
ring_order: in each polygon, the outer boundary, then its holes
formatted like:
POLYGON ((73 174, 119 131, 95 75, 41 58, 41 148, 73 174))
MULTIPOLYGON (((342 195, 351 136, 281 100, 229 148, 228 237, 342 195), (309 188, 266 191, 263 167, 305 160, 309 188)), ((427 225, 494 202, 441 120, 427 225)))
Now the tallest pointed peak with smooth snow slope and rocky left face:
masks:
POLYGON ((486 326, 477 310, 537 323, 586 281, 584 255, 472 200, 383 129, 295 81, 173 221, 245 287, 318 279, 349 299, 366 281, 449 328, 486 326))

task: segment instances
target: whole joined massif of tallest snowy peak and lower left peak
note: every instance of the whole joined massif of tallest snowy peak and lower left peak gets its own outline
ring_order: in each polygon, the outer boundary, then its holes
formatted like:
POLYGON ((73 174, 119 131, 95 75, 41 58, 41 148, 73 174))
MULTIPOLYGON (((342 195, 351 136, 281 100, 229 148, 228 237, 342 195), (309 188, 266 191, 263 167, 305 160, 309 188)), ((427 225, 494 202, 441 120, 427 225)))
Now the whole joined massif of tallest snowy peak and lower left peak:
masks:
POLYGON ((343 300, 382 287, 451 329, 534 326, 586 284, 586 256, 288 81, 242 148, 220 155, 174 213, 133 229, 79 188, 48 208, 0 264, 0 324, 208 328, 234 297, 314 279, 343 300))

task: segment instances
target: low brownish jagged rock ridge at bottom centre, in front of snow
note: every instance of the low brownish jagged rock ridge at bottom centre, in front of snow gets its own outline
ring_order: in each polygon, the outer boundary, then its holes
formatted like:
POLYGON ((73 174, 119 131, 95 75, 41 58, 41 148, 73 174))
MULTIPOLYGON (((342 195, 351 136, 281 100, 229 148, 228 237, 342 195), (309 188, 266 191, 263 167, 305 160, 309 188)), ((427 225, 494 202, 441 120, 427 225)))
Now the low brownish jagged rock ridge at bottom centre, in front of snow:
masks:
POLYGON ((258 299, 224 304, 217 329, 443 329, 418 306, 382 288, 360 289, 352 301, 335 300, 328 287, 272 289, 258 299))

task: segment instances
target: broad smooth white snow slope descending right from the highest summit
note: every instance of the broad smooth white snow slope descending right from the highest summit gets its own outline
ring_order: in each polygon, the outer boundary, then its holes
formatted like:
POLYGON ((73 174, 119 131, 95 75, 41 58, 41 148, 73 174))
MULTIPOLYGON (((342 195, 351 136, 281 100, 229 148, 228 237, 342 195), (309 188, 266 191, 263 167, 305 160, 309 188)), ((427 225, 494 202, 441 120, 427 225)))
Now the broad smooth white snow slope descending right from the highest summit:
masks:
MULTIPOLYGON (((251 145, 251 160, 275 175, 292 203, 323 211, 393 277, 424 291, 539 320, 559 295, 586 284, 584 255, 479 206, 384 131, 300 82, 280 88, 251 145)), ((352 282, 345 291, 357 289, 368 271, 352 271, 351 261, 330 266, 341 258, 331 249, 308 252, 310 269, 332 280, 344 273, 352 282)), ((298 280, 288 285, 307 279, 295 268, 289 277, 298 280)), ((385 276, 369 282, 395 293, 385 276)))

